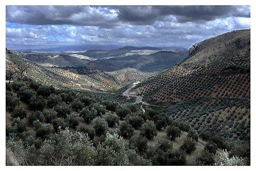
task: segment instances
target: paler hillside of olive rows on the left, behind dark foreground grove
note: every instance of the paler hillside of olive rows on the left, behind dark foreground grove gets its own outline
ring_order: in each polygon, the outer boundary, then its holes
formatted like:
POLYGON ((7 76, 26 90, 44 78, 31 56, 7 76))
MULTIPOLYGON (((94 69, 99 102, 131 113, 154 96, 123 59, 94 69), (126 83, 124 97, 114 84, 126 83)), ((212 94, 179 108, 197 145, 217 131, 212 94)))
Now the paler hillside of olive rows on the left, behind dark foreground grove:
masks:
MULTIPOLYGON (((40 84, 53 85, 56 88, 70 87, 72 89, 91 89, 91 90, 111 90, 113 87, 117 87, 116 82, 111 78, 102 80, 100 74, 83 75, 79 73, 73 73, 68 70, 64 70, 57 67, 40 66, 33 63, 23 57, 20 57, 20 53, 6 52, 6 68, 11 66, 17 70, 17 64, 28 68, 24 71, 24 76, 34 80, 40 84)), ((19 76, 17 71, 16 77, 19 76)))

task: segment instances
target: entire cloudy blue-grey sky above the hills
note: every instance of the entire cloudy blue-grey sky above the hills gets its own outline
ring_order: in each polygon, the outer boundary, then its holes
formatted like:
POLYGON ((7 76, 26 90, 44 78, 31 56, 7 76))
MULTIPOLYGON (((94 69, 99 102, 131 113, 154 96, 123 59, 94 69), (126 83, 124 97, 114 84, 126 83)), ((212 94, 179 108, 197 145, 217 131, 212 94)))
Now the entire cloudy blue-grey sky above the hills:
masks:
POLYGON ((250 28, 250 6, 6 6, 6 47, 191 47, 250 28))

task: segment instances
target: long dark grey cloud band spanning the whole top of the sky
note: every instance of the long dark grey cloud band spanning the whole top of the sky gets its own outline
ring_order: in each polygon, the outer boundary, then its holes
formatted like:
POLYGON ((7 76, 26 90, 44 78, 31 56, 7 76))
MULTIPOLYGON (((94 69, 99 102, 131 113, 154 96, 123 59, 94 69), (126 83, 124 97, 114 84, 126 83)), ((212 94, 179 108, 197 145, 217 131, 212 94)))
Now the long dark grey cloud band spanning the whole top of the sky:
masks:
POLYGON ((154 24, 157 20, 206 22, 225 17, 250 17, 250 6, 7 6, 6 21, 114 27, 154 24))

